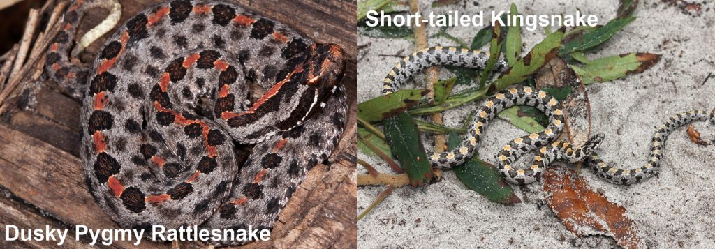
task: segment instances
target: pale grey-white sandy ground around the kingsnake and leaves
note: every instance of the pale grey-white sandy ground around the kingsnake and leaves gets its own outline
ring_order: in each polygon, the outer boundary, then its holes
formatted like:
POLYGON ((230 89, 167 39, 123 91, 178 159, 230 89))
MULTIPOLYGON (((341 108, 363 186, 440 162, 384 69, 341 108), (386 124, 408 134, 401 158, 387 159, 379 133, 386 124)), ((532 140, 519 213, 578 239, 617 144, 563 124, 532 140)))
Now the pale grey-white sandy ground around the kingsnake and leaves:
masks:
MULTIPOLYGON (((560 14, 580 9, 598 16, 605 24, 616 14, 618 1, 516 1, 522 14, 560 14)), ((467 1, 465 4, 431 8, 423 1, 423 11, 445 13, 466 7, 468 13, 483 10, 507 10, 507 1, 467 1)), ((593 133, 605 133, 599 151, 608 162, 630 168, 640 167, 649 153, 647 143, 654 126, 669 116, 691 109, 715 107, 714 4, 703 6, 701 16, 684 14, 681 9, 660 1, 641 2, 638 19, 600 49, 587 54, 590 59, 632 51, 661 54, 663 58, 645 73, 607 83, 587 86, 591 99, 593 133)), ((429 28, 428 35, 436 28, 429 28)), ((470 42, 477 28, 452 28, 450 34, 470 42)), ((524 50, 543 39, 541 29, 522 31, 524 50)), ((359 101, 380 94, 381 81, 399 60, 380 54, 403 55, 413 50, 412 41, 374 39, 360 36, 358 63, 359 101)), ((429 44, 455 45, 446 39, 430 38, 429 44)), ((526 52, 525 52, 526 53, 526 52)), ((442 73, 442 78, 448 73, 442 73)), ((423 77, 418 76, 418 82, 423 77)), ((459 89, 457 89, 459 90, 459 89)), ((466 113, 478 103, 445 113, 445 124, 458 126, 466 113)), ((702 138, 715 142, 715 125, 695 123, 702 138)), ((493 162, 493 155, 508 141, 525 132, 506 121, 495 120, 487 129, 478 148, 483 158, 493 162)), ((425 137, 425 145, 430 138, 425 137)), ((429 148, 429 147, 428 147, 429 148)), ((697 146, 686 136, 685 128, 676 130, 664 149, 659 176, 633 186, 616 186, 601 180, 590 169, 582 175, 594 188, 627 209, 638 226, 645 245, 651 248, 715 248, 715 146, 697 146)), ((360 153, 360 158, 390 172, 379 159, 360 153)), ((520 160, 526 163, 525 159, 520 160)), ((365 173, 361 168, 360 173, 365 173)), ((446 172, 443 181, 421 189, 403 187, 380 203, 358 222, 360 248, 613 248, 607 237, 578 238, 561 224, 545 205, 543 183, 515 188, 524 203, 505 206, 492 203, 466 188, 454 173, 446 172), (526 196, 527 198, 523 198, 526 196), (528 199, 528 200, 527 200, 528 199)), ((375 200, 384 187, 358 189, 358 212, 375 200)))

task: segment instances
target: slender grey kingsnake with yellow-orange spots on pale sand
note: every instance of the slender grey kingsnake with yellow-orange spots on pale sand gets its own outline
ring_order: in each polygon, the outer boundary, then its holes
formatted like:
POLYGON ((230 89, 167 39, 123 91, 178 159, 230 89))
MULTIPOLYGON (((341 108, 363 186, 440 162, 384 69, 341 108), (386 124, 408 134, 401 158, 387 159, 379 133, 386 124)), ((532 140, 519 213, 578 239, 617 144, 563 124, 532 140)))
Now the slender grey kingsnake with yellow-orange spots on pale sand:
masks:
MULTIPOLYGON (((405 81, 418 71, 429 66, 462 66, 467 68, 484 68, 489 55, 480 51, 470 51, 456 47, 435 46, 423 49, 405 57, 385 77, 383 94, 393 93, 405 81)), ((503 71, 506 62, 496 63, 495 71, 503 71)), ((458 148, 445 153, 428 152, 433 168, 452 168, 467 161, 474 154, 488 121, 497 113, 510 106, 526 105, 536 107, 546 113, 549 125, 541 132, 516 138, 502 148, 496 157, 497 167, 511 183, 528 184, 537 181, 543 175, 544 168, 551 162, 564 159, 570 162, 583 161, 593 168, 596 175, 613 183, 638 183, 654 176, 659 168, 661 150, 664 148, 666 136, 671 131, 693 121, 710 120, 715 122, 714 113, 710 111, 688 111, 669 118, 659 126, 651 140, 651 156, 648 163, 635 169, 623 169, 608 166, 598 158, 593 151, 598 148, 603 135, 593 136, 580 148, 570 143, 556 141, 564 126, 561 104, 548 93, 531 87, 516 86, 496 93, 486 98, 481 108, 476 112, 473 122, 468 128, 467 138, 458 148), (511 163, 528 151, 536 151, 533 163, 525 169, 516 169, 511 163)))

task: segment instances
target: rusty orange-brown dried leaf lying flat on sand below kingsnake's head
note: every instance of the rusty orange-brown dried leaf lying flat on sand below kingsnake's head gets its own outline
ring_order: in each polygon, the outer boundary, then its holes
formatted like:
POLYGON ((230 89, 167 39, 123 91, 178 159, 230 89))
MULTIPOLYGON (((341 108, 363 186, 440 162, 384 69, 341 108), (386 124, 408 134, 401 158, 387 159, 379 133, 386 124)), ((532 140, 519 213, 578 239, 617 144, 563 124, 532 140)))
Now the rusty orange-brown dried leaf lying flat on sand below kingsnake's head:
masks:
POLYGON ((546 171, 543 179, 547 205, 572 233, 578 237, 610 236, 623 248, 642 246, 636 223, 626 217, 626 208, 589 188, 576 172, 546 171))

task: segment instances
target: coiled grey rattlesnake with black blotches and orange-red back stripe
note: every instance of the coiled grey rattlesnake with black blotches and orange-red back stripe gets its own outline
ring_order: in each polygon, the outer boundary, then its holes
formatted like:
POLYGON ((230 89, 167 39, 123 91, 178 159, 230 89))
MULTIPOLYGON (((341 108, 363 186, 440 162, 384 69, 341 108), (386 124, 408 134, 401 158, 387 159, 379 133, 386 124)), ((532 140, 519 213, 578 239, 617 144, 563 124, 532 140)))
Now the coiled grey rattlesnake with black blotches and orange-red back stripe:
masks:
POLYGON ((340 46, 232 4, 170 1, 119 27, 91 69, 71 66, 93 6, 69 6, 46 70, 84 96, 82 166, 102 210, 123 228, 272 228, 345 128, 340 46), (252 104, 247 81, 267 90, 252 104), (235 143, 255 144, 242 166, 235 143))

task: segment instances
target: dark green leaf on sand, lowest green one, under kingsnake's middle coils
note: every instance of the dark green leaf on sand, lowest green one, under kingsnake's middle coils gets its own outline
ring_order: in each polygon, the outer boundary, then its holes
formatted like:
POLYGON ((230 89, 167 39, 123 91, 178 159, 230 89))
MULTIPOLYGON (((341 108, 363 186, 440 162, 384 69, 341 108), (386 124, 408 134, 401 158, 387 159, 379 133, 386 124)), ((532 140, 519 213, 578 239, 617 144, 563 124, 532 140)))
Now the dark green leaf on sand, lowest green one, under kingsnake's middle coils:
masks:
MULTIPOLYGON (((448 140, 450 150, 459 146, 457 133, 451 132, 448 140)), ((499 176, 496 167, 479 159, 477 153, 469 161, 454 167, 453 172, 467 188, 488 200, 506 205, 521 203, 511 186, 499 176)))

